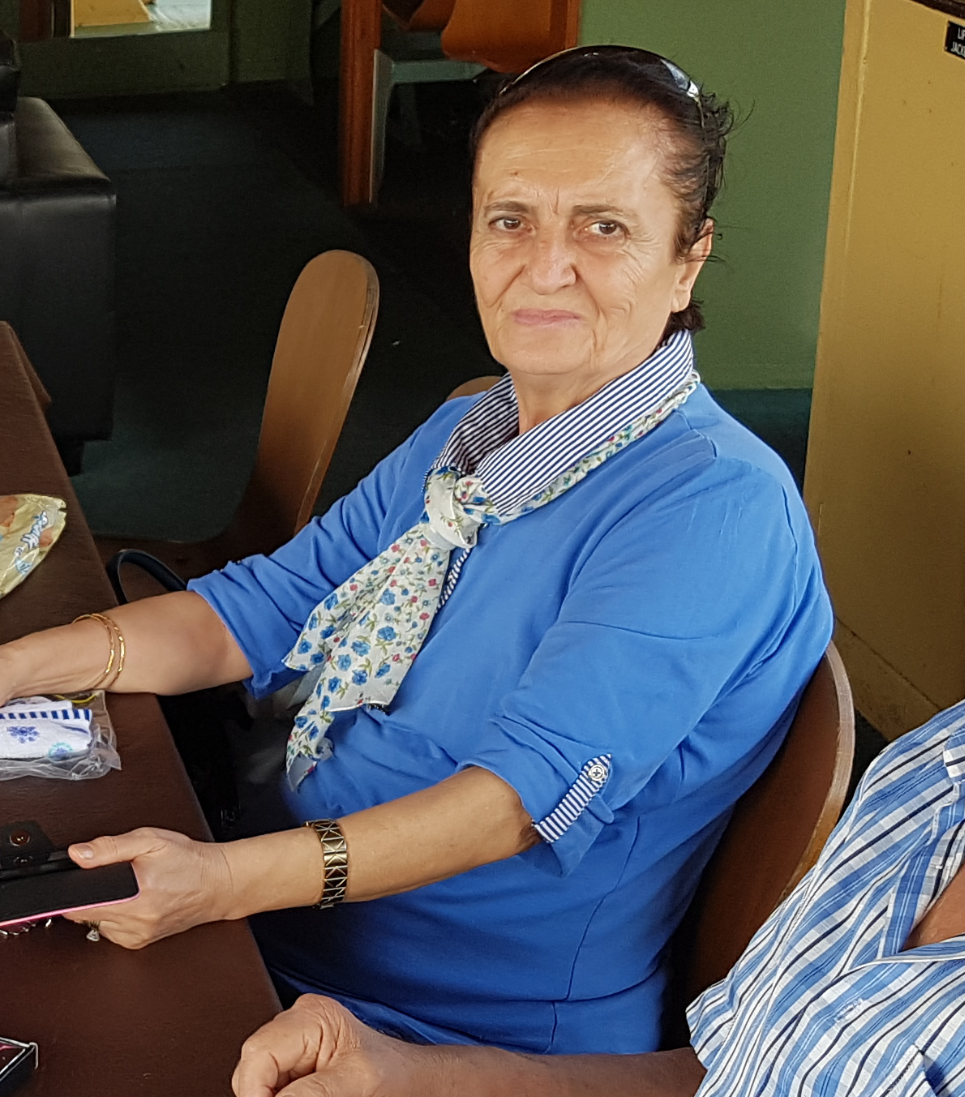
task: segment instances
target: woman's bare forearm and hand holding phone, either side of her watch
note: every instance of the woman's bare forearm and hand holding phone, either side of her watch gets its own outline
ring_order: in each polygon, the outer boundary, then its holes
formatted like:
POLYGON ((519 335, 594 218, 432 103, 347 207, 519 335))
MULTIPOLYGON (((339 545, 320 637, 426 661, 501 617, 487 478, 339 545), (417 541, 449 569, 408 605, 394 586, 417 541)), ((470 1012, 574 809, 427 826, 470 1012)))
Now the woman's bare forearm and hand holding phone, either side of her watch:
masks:
MULTIPOLYGON (((513 857, 538 841, 519 795, 474 766, 341 819, 349 846, 347 900, 422 887, 513 857)), ((81 868, 129 861, 140 894, 116 906, 69 915, 139 949, 204 921, 246 918, 317 903, 325 881, 318 836, 307 827, 215 845, 143 827, 70 847, 81 868)))

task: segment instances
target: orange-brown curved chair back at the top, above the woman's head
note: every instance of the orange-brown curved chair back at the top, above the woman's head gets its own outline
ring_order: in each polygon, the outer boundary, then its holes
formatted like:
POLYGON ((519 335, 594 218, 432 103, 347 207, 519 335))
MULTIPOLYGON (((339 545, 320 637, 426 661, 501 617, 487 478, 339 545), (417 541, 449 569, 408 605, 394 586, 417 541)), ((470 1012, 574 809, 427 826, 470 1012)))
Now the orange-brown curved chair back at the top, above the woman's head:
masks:
POLYGON ((456 0, 442 48, 446 57, 497 72, 522 72, 575 46, 579 19, 580 0, 456 0))

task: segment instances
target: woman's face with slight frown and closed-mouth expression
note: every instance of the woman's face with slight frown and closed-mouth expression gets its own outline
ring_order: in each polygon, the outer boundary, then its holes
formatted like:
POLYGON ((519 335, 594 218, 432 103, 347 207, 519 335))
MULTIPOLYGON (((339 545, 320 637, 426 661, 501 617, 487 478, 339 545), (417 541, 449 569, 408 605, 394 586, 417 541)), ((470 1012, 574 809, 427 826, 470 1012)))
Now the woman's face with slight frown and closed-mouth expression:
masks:
POLYGON ((709 235, 678 259, 656 117, 618 102, 534 103, 487 132, 470 267, 493 357, 584 399, 656 349, 690 302, 709 235))

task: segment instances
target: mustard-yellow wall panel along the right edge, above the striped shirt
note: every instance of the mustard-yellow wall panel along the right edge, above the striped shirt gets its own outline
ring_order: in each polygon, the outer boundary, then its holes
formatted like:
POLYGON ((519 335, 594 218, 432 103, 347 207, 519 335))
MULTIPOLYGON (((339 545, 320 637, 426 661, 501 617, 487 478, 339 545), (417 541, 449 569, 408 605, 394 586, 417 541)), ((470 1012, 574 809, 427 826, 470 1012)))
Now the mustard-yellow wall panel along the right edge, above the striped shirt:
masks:
POLYGON ((849 0, 805 486, 855 701, 888 735, 965 695, 965 60, 944 50, 949 22, 849 0))

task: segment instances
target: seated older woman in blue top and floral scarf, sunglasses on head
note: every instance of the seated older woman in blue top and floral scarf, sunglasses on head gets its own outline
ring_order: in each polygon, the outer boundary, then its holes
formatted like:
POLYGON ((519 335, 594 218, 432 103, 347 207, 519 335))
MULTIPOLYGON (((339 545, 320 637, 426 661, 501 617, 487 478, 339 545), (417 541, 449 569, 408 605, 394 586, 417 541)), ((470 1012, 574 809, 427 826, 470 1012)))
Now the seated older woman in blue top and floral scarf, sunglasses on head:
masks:
POLYGON ((285 988, 383 1031, 657 1047, 665 946, 831 629, 791 476, 694 372, 727 122, 644 50, 518 78, 470 255, 509 375, 272 556, 0 649, 5 697, 311 675, 280 829, 72 848, 140 882, 102 935, 259 914, 285 988))

